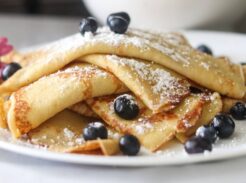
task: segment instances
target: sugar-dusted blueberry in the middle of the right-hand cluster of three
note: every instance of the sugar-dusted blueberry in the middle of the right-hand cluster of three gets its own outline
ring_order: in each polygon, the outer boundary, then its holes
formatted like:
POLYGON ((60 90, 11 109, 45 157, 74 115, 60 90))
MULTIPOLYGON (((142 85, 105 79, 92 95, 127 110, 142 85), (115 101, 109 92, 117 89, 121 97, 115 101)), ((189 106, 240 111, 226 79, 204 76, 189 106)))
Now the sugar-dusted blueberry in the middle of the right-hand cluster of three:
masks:
POLYGON ((201 126, 196 130, 196 136, 199 136, 210 143, 214 143, 217 139, 217 131, 212 126, 201 126))

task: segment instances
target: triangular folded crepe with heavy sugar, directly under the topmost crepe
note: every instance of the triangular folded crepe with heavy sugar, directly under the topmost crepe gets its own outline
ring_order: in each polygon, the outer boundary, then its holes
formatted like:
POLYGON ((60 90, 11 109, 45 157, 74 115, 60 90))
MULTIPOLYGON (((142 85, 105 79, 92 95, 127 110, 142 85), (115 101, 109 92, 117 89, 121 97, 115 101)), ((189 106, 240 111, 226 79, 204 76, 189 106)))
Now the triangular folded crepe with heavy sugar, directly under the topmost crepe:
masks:
POLYGON ((158 64, 115 55, 89 55, 80 60, 114 74, 153 112, 168 111, 189 95, 189 82, 158 64))

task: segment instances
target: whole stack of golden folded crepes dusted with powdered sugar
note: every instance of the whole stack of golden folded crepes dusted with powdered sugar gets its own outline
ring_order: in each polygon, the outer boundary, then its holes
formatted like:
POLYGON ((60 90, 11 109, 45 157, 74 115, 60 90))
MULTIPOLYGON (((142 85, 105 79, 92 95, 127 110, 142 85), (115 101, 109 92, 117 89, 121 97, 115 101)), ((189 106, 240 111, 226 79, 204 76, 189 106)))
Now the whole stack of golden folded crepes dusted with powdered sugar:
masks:
POLYGON ((185 142, 245 94, 241 65, 197 51, 179 33, 115 34, 103 27, 15 61, 23 68, 0 85, 1 127, 58 152, 117 154, 122 134, 154 152, 175 138, 185 142), (140 108, 134 120, 114 112, 123 94, 140 108), (108 139, 84 141, 83 128, 92 121, 105 123, 108 139))

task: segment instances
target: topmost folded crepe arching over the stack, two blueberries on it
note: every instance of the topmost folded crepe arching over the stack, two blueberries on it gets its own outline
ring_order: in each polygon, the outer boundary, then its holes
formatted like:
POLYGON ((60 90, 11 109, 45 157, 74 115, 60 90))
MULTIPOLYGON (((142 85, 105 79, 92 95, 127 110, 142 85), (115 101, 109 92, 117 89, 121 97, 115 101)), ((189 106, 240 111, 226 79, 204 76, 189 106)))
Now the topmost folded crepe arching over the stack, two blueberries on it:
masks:
POLYGON ((223 65, 227 61, 224 58, 201 53, 187 41, 175 36, 180 37, 178 34, 170 36, 169 33, 165 36, 135 29, 129 29, 126 34, 115 34, 105 27, 98 29, 95 35, 76 34, 34 51, 39 57, 4 82, 0 86, 0 93, 16 91, 42 76, 58 71, 79 57, 104 53, 153 61, 220 94, 232 98, 244 96, 241 66, 228 62, 225 69, 223 65))

